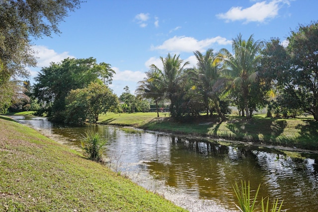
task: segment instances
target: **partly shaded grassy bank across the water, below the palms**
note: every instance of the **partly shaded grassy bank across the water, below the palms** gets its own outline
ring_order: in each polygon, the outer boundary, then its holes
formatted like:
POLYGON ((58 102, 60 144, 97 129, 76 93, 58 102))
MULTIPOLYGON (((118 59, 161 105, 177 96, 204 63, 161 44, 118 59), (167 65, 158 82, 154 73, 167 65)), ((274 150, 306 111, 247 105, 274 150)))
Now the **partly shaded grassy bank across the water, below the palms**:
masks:
POLYGON ((217 117, 210 119, 200 117, 198 120, 181 123, 172 121, 167 116, 168 114, 164 117, 164 113, 161 113, 159 118, 157 113, 107 113, 100 117, 99 123, 318 150, 318 122, 312 117, 275 119, 265 118, 265 115, 255 115, 251 120, 246 121, 244 117, 228 116, 228 120, 222 123, 217 117))

